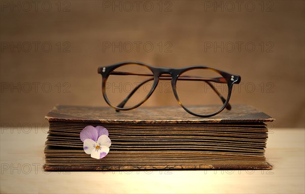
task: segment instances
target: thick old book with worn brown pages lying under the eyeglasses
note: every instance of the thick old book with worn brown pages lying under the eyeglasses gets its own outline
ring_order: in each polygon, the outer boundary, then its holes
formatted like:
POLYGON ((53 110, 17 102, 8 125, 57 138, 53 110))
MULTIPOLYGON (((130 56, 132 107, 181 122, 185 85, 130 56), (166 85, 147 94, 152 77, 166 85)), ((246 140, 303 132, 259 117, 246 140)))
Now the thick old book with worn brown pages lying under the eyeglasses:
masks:
POLYGON ((251 106, 233 105, 208 118, 181 107, 116 112, 110 107, 56 106, 45 118, 45 170, 272 168, 264 154, 267 122, 273 119, 251 106), (84 152, 80 132, 88 125, 109 132, 110 151, 101 159, 84 152))

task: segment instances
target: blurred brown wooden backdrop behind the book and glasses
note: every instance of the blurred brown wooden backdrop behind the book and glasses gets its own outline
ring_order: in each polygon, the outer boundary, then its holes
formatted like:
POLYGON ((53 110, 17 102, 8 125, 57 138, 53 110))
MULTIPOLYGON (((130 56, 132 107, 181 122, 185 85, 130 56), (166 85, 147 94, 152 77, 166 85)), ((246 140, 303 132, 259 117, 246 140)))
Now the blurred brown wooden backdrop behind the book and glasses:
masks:
MULTIPOLYGON (((304 1, 1 1, 1 124, 107 106, 99 66, 138 60, 241 75, 231 104, 304 127, 304 1)), ((177 105, 155 92, 143 106, 177 105)))

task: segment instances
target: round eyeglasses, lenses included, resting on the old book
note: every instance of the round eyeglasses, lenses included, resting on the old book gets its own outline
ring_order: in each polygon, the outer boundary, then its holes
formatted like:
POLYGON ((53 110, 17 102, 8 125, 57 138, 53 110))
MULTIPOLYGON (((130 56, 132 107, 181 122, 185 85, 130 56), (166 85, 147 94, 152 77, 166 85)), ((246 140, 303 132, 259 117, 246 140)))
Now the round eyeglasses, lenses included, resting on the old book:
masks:
POLYGON ((103 97, 117 112, 139 107, 158 87, 160 91, 173 92, 182 108, 199 117, 214 116, 225 108, 231 110, 232 87, 241 79, 205 66, 160 68, 138 61, 99 67, 98 73, 102 75, 103 97), (160 80, 171 83, 158 85, 160 80))

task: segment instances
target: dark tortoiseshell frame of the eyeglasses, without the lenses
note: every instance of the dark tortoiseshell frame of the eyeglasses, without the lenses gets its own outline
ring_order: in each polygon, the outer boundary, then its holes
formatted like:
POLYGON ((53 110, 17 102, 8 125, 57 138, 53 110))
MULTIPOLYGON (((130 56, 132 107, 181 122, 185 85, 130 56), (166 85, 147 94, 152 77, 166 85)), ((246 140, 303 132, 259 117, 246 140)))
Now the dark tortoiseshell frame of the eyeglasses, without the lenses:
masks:
POLYGON ((206 67, 206 66, 191 66, 191 67, 186 67, 186 68, 159 68, 159 67, 153 67, 153 66, 149 66, 148 64, 145 64, 143 62, 138 62, 138 61, 125 61, 125 62, 118 62, 115 64, 112 64, 110 66, 105 66, 105 67, 99 67, 98 68, 98 73, 102 75, 102 90, 103 90, 103 96, 104 99, 106 101, 106 103, 114 108, 116 111, 126 111, 126 110, 132 110, 135 109, 137 107, 139 107, 140 105, 142 105, 145 101, 148 100, 148 98, 150 97, 151 94, 153 94, 153 92, 155 91, 159 80, 171 80, 171 85, 172 85, 172 89, 173 89, 173 93, 175 95, 176 100, 178 101, 179 105, 184 108, 188 113, 198 116, 198 117, 210 117, 210 116, 214 116, 218 113, 220 113, 221 111, 223 111, 225 108, 227 108, 228 110, 231 109, 231 106, 229 104, 229 100, 231 97, 231 92, 232 92, 232 87, 233 84, 238 84, 241 80, 241 77, 239 75, 235 75, 235 74, 230 74, 215 68, 210 68, 210 67, 206 67), (144 66, 146 68, 148 68, 153 75, 148 75, 148 74, 137 74, 135 73, 125 73, 125 72, 112 72, 113 70, 115 70, 118 67, 121 66, 125 66, 127 64, 138 64, 139 66, 144 66), (219 78, 214 78, 214 79, 205 79, 205 78, 199 78, 199 77, 182 77, 179 75, 181 75, 182 73, 189 71, 189 70, 194 70, 194 69, 208 69, 214 72, 217 72, 218 74, 220 74, 223 77, 219 77, 219 78), (119 105, 114 106, 112 105, 106 95, 106 81, 109 77, 109 75, 113 73, 113 75, 145 75, 145 76, 154 76, 154 78, 150 78, 144 82, 142 82, 141 84, 139 84, 136 88, 134 88, 134 90, 127 96, 127 98, 121 102, 119 105), (163 75, 165 74, 165 75, 163 75), (170 75, 170 76, 169 76, 170 75), (219 97, 221 98, 221 100, 223 101, 224 105, 216 112, 208 114, 208 115, 200 115, 200 114, 196 114, 191 112, 190 110, 188 110, 184 105, 182 105, 182 103, 179 100, 179 96, 177 94, 176 91, 176 83, 177 83, 177 79, 184 79, 184 80, 202 80, 205 81, 206 83, 208 83, 212 89, 214 89, 214 91, 219 95, 219 97), (149 91, 149 93, 146 95, 145 99, 142 100, 139 104, 130 107, 130 108, 124 108, 124 105, 126 104, 126 102, 129 100, 129 98, 133 95, 133 93, 139 88, 141 87, 141 85, 143 85, 144 83, 146 83, 147 81, 151 81, 154 80, 153 86, 151 87, 151 90, 149 91), (220 94, 220 92, 218 92, 218 90, 209 83, 209 81, 213 81, 213 82, 218 82, 218 83, 227 83, 228 85, 228 96, 227 99, 223 98, 223 96, 220 94))

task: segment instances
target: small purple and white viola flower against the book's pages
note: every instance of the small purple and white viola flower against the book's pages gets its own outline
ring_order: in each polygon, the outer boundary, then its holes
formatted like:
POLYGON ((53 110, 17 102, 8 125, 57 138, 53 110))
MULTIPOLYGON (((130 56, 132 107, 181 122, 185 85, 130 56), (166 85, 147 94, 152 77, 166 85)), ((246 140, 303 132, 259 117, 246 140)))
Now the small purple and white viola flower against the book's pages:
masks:
POLYGON ((101 159, 109 152, 111 140, 108 138, 108 130, 103 126, 86 126, 80 132, 80 140, 84 142, 83 148, 86 154, 101 159))

